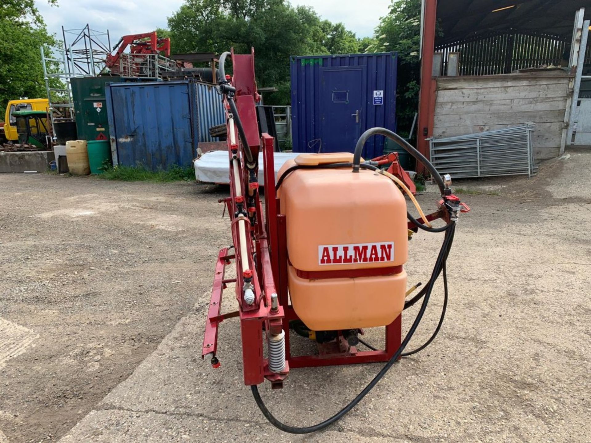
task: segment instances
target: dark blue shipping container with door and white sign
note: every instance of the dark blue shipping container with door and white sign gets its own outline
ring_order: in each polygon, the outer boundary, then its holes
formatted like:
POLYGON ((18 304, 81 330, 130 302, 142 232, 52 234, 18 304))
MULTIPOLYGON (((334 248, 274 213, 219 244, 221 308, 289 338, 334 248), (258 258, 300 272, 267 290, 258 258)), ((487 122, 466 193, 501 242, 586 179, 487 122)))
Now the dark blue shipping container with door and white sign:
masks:
MULTIPOLYGON (((290 57, 294 152, 353 152, 369 128, 396 130, 397 53, 290 57)), ((363 157, 384 152, 374 136, 363 157)))

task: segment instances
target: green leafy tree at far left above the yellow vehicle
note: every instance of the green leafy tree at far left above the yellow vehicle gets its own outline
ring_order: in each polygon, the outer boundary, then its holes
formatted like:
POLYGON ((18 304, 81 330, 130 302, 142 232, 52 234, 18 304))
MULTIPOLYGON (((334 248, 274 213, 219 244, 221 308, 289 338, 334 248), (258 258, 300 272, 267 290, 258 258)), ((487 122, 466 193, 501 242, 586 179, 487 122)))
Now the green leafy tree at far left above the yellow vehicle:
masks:
MULTIPOLYGON (((56 5, 57 0, 47 0, 56 5)), ((0 2, 0 120, 9 100, 47 95, 41 45, 50 54, 56 44, 47 33, 43 17, 34 0, 2 0, 0 2)))

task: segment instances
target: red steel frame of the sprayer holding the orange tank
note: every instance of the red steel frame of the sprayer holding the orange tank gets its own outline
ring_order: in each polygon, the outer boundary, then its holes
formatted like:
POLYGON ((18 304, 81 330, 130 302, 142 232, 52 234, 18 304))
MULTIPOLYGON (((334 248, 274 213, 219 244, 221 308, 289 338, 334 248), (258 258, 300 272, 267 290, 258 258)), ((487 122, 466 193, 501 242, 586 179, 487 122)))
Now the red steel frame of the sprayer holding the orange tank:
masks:
MULTIPOLYGON (((212 364, 217 367, 219 362, 217 353, 217 328, 223 320, 239 317, 242 335, 242 361, 245 385, 258 385, 265 379, 271 381, 273 387, 282 387, 283 380, 287 377, 290 368, 329 366, 353 363, 375 363, 388 361, 394 356, 401 342, 401 316, 385 327, 385 348, 377 351, 358 351, 355 347, 342 347, 338 340, 323 346, 319 355, 292 356, 290 352, 290 327, 291 320, 298 320, 296 311, 289 304, 287 287, 287 239, 285 230, 285 216, 280 214, 280 200, 275 193, 275 168, 274 168, 274 140, 267 133, 259 136, 256 122, 255 101, 258 99, 256 83, 254 80, 254 51, 248 55, 236 56, 232 53, 234 79, 232 86, 236 87, 236 105, 241 116, 241 122, 245 129, 246 140, 252 154, 258 158, 259 150, 262 150, 264 163, 265 184, 265 211, 262 210, 261 199, 258 193, 258 184, 249 183, 249 173, 246 170, 243 159, 238 162, 238 177, 241 177, 242 195, 236 195, 234 183, 234 168, 232 159, 234 155, 240 158, 241 144, 236 139, 236 145, 232 145, 231 137, 228 137, 228 154, 230 161, 230 193, 231 196, 220 200, 226 204, 232 219, 232 240, 235 253, 230 253, 229 248, 220 250, 216 262, 215 277, 213 280, 212 295, 209 312, 207 314, 205 335, 203 340, 203 357, 212 357, 212 364), (244 202, 244 203, 242 203, 244 202), (236 217, 239 204, 248 206, 248 251, 239 249, 238 226, 239 220, 245 217, 236 217), (252 253, 256 252, 256 260, 252 253), (231 262, 236 261, 236 269, 241 269, 241 258, 249 260, 248 267, 252 270, 255 286, 255 302, 246 305, 243 302, 243 279, 240 273, 236 279, 225 278, 225 268, 231 262), (228 283, 236 283, 236 300, 239 310, 229 314, 220 314, 223 289, 228 283), (277 294, 279 308, 273 311, 271 308, 271 295, 277 294), (263 327, 272 334, 285 331, 285 369, 281 373, 273 373, 268 370, 268 361, 263 356, 263 327)), ((226 113, 229 116, 229 106, 226 103, 226 113)), ((228 133, 236 131, 228 122, 228 133)), ((237 134, 237 132, 235 132, 237 134)), ((243 158, 243 156, 242 156, 243 158)), ((258 179, 257 179, 258 180, 258 179)), ((439 213, 431 214, 437 218, 439 213)), ((342 342, 342 339, 340 339, 342 342)))

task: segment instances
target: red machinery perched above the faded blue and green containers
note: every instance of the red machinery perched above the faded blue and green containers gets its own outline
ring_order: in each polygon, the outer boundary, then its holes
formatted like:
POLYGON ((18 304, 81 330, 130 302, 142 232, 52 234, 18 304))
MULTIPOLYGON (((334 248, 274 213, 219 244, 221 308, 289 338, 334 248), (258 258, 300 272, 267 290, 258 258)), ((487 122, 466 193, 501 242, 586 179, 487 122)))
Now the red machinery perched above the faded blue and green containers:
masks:
POLYGON ((145 56, 151 54, 157 56, 163 53, 164 57, 170 57, 170 38, 158 38, 156 31, 144 32, 142 34, 124 35, 113 47, 114 54, 109 54, 105 65, 113 74, 137 74, 140 65, 145 64, 145 56), (129 47, 132 60, 122 60, 125 57, 124 51, 129 47), (136 57, 134 57, 136 56, 136 57), (132 65, 131 67, 129 65, 132 65))

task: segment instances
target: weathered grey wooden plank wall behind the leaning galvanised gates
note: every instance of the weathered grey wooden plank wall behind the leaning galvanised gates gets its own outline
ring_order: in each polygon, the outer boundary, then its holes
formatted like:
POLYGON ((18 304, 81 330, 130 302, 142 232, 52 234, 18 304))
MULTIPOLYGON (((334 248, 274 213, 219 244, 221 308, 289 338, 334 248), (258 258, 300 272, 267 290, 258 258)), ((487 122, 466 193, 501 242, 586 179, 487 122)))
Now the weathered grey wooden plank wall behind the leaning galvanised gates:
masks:
POLYGON ((571 76, 564 71, 437 77, 435 138, 534 122, 537 160, 557 157, 571 76))

